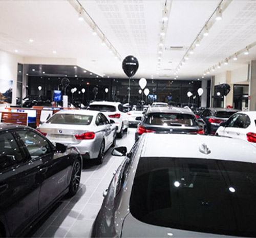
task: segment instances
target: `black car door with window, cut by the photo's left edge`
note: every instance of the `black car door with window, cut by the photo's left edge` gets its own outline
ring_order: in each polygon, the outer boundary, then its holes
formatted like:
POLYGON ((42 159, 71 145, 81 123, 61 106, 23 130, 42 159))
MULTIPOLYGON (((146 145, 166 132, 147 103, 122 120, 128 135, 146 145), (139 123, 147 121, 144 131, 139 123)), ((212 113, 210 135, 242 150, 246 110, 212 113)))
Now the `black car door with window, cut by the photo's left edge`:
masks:
POLYGON ((0 134, 0 210, 18 235, 38 212, 40 160, 30 161, 15 133, 0 134), (16 138, 16 139, 15 139, 16 138))

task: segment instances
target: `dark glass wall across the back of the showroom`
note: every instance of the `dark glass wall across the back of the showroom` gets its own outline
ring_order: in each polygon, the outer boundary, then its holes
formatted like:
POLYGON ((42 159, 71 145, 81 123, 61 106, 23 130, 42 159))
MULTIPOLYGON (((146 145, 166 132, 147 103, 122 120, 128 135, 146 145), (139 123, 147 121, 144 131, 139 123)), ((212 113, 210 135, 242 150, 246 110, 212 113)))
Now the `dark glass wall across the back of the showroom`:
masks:
MULTIPOLYGON (((70 78, 70 85, 66 89, 66 94, 69 96, 69 101, 80 101, 87 105, 94 100, 95 95, 93 89, 97 88, 98 93, 96 100, 111 100, 126 103, 129 95, 129 79, 114 79, 114 78, 70 78), (72 94, 71 89, 76 88, 76 92, 72 94), (82 93, 82 89, 85 93, 82 93), (108 89, 108 90, 106 90, 108 89), (106 93, 108 91, 108 93, 106 93)), ((30 96, 45 96, 53 100, 54 90, 61 90, 64 93, 61 85, 61 77, 32 77, 28 78, 28 95, 30 96), (40 87, 39 87, 40 86, 40 87), (38 89, 41 88, 41 90, 38 89)), ((200 98, 197 90, 201 87, 201 81, 188 80, 147 80, 146 88, 150 90, 150 98, 143 93, 139 94, 139 79, 131 79, 131 103, 136 103, 144 100, 145 103, 154 101, 195 103, 200 105, 200 98), (193 96, 187 97, 187 92, 191 92, 193 96), (153 96, 154 95, 154 96, 153 96)), ((206 92, 205 92, 206 93, 206 92)))

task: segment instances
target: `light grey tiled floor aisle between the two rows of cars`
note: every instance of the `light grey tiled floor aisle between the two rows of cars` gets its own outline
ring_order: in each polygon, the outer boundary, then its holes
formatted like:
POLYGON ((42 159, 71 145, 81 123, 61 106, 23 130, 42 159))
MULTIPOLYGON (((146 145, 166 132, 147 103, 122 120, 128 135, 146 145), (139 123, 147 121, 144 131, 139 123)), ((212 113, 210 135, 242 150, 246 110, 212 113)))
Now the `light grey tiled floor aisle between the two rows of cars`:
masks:
MULTIPOLYGON (((116 146, 127 146, 128 151, 134 144, 135 128, 129 128, 116 146)), ((52 209, 41 224, 33 229, 32 237, 89 237, 96 215, 103 201, 102 193, 108 188, 113 172, 118 168, 122 157, 111 155, 113 148, 106 152, 101 165, 92 161, 82 170, 80 189, 71 199, 63 198, 52 209)), ((29 235, 29 236, 30 236, 29 235)))

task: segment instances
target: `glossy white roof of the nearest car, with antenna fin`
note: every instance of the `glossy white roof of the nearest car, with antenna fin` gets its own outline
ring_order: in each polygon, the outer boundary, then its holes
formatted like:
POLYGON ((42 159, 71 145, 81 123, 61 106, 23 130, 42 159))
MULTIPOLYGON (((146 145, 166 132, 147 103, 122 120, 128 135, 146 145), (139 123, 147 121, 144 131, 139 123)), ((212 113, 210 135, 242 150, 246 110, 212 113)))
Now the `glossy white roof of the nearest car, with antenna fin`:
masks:
POLYGON ((256 146, 241 139, 219 136, 158 134, 143 135, 141 157, 218 159, 256 163, 256 146), (200 152, 205 144, 209 154, 200 152))

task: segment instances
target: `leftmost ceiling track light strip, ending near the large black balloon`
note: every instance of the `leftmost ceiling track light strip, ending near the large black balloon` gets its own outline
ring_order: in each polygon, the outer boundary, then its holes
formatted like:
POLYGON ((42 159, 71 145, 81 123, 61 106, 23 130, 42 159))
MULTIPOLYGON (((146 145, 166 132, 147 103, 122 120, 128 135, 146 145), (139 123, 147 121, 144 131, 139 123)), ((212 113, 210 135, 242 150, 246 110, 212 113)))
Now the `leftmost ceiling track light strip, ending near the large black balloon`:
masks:
POLYGON ((83 8, 81 3, 76 0, 68 0, 68 2, 72 5, 72 7, 78 13, 78 20, 84 20, 86 23, 92 28, 92 35, 97 36, 101 39, 102 45, 109 48, 109 51, 114 54, 114 57, 118 60, 122 60, 122 56, 118 53, 116 48, 111 44, 110 40, 105 36, 99 26, 95 23, 93 18, 89 15, 89 13, 83 8))

